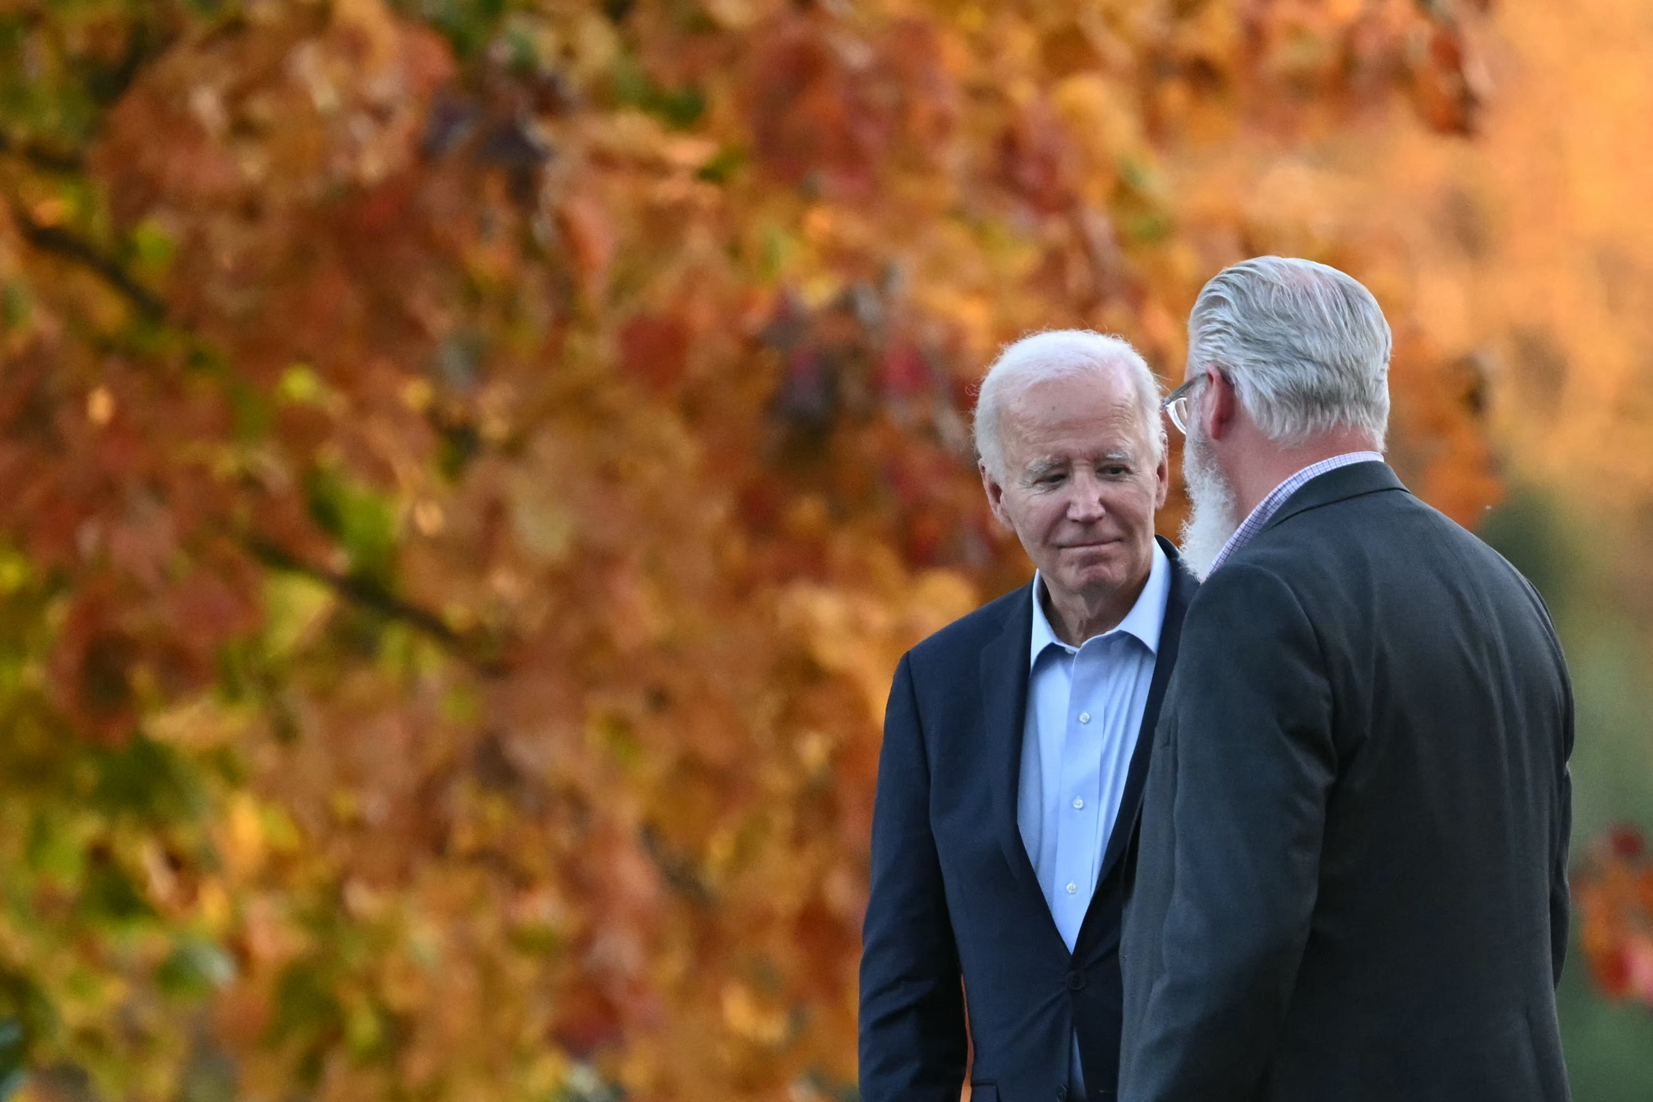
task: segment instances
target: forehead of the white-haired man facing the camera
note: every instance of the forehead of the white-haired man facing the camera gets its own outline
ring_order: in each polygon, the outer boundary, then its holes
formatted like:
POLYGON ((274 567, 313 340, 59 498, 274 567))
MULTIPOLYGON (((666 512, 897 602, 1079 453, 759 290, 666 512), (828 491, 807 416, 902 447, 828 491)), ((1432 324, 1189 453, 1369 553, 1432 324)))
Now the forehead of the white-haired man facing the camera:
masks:
POLYGON ((1005 403, 1007 459, 1134 448, 1146 439, 1131 377, 1117 367, 1043 378, 1005 403))

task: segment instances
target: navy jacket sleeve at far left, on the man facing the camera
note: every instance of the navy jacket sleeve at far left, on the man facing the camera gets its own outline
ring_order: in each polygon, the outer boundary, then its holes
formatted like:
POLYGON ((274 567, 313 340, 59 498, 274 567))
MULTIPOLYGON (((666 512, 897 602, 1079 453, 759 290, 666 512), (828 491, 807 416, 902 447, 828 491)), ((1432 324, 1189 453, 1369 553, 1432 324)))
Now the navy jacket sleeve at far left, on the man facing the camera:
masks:
POLYGON ((929 823, 929 760, 909 658, 884 714, 861 929, 863 1102, 957 1102, 967 1041, 959 952, 929 823))

